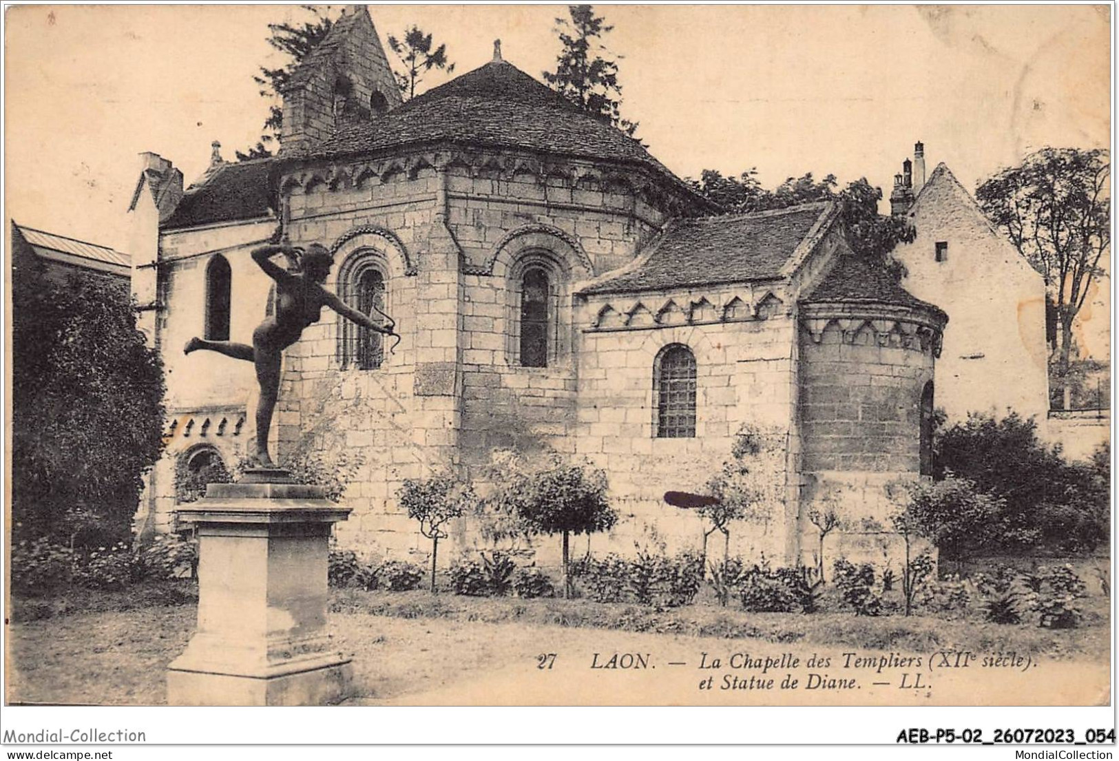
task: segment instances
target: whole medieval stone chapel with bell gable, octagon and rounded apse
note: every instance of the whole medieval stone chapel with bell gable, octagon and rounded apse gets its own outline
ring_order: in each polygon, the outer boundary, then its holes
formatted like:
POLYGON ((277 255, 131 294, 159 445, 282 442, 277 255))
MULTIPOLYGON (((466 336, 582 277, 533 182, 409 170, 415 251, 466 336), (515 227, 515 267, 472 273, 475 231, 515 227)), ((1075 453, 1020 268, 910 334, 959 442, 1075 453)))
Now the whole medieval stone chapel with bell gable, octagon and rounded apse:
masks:
MULTIPOLYGON (((341 458, 345 546, 426 553, 396 505, 403 479, 477 477, 502 449, 606 471, 621 519, 595 552, 674 551, 698 547, 703 524, 662 495, 702 491, 749 425, 775 442, 774 497, 732 552, 777 564, 811 563, 809 515, 829 505, 848 518, 833 552, 884 552, 891 486, 929 471, 941 309, 852 256, 836 206, 717 216, 497 46, 402 103, 356 7, 283 93, 275 158, 227 162, 215 145, 186 189, 142 158, 132 283, 169 411, 148 526, 173 527, 177 466, 232 464, 252 435, 253 366, 182 347, 248 339, 271 285, 250 252, 278 231, 329 247, 328 285, 403 337, 325 311, 284 358, 274 451, 341 458)), ((469 527, 452 539, 471 546, 469 527)))

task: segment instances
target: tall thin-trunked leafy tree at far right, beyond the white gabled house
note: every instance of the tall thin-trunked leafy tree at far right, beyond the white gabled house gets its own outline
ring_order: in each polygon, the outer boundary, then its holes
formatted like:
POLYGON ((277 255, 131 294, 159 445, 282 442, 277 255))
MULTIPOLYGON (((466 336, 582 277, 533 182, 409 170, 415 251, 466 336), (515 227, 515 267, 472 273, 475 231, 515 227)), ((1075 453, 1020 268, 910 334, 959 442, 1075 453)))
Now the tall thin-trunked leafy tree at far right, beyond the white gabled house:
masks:
MULTIPOLYGON (((1045 278, 1060 328, 1057 383, 1065 391, 1072 323, 1111 245, 1108 152, 1043 148, 976 191, 990 220, 1045 278)), ((1068 402, 1068 398, 1065 398, 1068 402)))

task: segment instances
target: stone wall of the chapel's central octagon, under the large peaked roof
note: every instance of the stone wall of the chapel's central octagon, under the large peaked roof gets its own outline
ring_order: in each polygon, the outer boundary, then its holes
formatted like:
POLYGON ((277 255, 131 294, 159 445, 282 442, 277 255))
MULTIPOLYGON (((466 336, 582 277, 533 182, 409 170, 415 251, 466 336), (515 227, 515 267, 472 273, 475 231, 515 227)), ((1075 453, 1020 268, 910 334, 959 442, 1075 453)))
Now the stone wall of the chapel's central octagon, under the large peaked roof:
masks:
MULTIPOLYGON (((332 467, 350 471, 345 502, 354 511, 337 528, 339 542, 420 560, 430 543, 396 506, 405 478, 443 467, 477 477, 495 449, 573 449, 572 293, 651 235, 652 222, 634 214, 662 216, 620 191, 469 169, 443 154, 314 168, 283 187, 292 243, 331 246, 335 278, 355 255, 375 255, 387 269, 386 311, 402 341, 378 369, 341 370, 339 318, 325 310, 288 351, 279 451, 325 448, 332 467), (592 195, 576 204, 576 191, 592 195), (520 367, 515 356, 524 256, 552 264, 555 356, 546 368, 520 367)), ((472 541, 458 527, 448 556, 472 541)))

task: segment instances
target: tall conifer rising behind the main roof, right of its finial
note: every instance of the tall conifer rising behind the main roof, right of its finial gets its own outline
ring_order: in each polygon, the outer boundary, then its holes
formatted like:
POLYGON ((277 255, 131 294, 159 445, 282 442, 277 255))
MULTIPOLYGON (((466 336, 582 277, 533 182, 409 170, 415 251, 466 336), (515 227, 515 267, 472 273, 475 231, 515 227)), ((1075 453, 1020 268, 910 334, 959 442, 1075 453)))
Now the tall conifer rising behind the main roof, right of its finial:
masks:
POLYGON ((638 124, 621 118, 618 62, 603 57, 611 53, 600 41, 613 27, 594 15, 593 6, 567 6, 567 12, 570 19, 556 19, 563 50, 556 71, 544 72, 544 81, 586 113, 632 137, 638 124))

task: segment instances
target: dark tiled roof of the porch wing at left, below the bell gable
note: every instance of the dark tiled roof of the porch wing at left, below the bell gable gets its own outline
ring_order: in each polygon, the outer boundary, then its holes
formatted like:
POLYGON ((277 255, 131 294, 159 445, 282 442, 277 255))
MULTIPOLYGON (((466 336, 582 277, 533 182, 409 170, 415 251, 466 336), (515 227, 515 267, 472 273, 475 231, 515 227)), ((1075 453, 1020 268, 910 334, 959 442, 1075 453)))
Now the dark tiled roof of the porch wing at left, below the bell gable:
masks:
POLYGON ((218 166, 187 189, 161 227, 175 229, 266 216, 272 201, 269 171, 273 160, 218 166))

